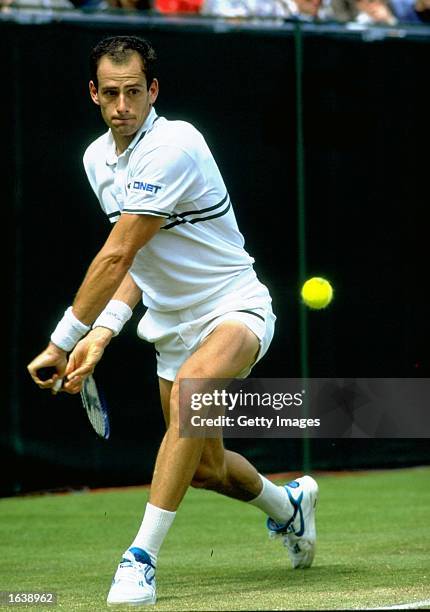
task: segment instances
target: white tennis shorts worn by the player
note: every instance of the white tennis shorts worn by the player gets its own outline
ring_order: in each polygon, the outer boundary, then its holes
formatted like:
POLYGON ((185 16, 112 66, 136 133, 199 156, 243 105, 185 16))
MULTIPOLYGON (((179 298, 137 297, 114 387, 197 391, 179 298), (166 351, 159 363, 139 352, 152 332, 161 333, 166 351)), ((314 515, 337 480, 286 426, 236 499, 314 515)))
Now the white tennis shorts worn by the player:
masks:
POLYGON ((260 341, 254 364, 237 375, 246 378, 267 352, 276 321, 269 291, 252 268, 234 277, 215 297, 190 308, 169 312, 148 308, 137 334, 155 345, 158 376, 173 381, 181 365, 223 321, 242 321, 260 341))

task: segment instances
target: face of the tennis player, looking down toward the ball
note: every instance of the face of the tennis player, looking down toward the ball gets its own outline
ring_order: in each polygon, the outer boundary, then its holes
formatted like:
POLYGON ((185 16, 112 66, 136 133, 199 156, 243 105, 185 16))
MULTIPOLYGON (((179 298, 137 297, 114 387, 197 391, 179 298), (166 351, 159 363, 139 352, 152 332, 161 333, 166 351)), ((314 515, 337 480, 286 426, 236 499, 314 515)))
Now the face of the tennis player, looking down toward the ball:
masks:
POLYGON ((101 58, 97 70, 98 88, 90 81, 90 95, 100 106, 102 117, 112 130, 115 142, 124 149, 143 125, 158 95, 156 79, 147 89, 142 60, 137 53, 125 64, 101 58))

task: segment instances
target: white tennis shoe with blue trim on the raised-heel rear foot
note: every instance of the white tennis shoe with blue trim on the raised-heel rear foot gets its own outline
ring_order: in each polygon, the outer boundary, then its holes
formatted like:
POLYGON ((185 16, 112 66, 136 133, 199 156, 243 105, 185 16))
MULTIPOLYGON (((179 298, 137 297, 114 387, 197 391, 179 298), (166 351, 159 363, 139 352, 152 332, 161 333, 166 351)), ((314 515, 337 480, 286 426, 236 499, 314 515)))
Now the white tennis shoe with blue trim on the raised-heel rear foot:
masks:
POLYGON ((311 476, 296 478, 285 485, 293 515, 284 524, 267 519, 270 538, 281 538, 294 568, 312 565, 315 556, 315 507, 318 485, 311 476))

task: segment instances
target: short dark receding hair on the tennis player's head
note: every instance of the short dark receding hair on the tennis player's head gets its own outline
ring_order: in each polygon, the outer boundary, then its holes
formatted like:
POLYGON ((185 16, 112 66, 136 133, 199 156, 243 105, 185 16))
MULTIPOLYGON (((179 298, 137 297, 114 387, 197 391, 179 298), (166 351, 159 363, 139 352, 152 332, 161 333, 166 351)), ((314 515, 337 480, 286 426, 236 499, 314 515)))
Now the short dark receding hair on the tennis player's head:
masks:
POLYGON ((115 64, 125 64, 133 53, 140 55, 149 89, 155 78, 157 55, 147 40, 137 36, 110 36, 97 43, 90 55, 90 75, 96 88, 98 87, 97 69, 102 57, 107 55, 115 64))

